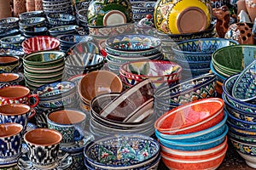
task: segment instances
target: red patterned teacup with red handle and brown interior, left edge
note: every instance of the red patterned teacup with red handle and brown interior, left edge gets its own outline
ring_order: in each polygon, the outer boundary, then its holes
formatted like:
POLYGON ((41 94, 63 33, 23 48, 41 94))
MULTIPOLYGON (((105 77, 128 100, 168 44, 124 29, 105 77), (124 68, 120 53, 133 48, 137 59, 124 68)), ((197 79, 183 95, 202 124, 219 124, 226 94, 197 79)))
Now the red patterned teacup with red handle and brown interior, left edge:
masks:
POLYGON ((29 105, 31 98, 35 99, 35 103, 30 105, 35 107, 38 105, 38 94, 30 94, 30 89, 24 86, 15 85, 0 89, 0 105, 8 104, 26 104, 29 105))

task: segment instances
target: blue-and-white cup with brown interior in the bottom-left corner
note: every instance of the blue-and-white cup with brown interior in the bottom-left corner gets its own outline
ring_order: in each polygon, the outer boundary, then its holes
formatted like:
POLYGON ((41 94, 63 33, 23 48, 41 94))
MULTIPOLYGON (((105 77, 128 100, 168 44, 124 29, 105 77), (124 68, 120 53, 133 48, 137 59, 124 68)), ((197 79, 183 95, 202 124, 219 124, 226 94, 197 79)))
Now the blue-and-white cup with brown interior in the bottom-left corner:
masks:
POLYGON ((12 161, 20 156, 22 129, 18 123, 0 124, 0 159, 12 161))

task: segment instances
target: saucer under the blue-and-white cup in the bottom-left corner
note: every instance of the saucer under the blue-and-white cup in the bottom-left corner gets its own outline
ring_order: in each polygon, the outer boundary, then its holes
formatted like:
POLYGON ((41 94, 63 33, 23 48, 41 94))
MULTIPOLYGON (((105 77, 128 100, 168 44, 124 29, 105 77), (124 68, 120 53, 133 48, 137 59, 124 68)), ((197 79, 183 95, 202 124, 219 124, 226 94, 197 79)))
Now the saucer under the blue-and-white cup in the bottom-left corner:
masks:
MULTIPOLYGON (((0 159, 0 169, 15 169, 17 164, 17 160, 19 157, 27 152, 27 146, 25 143, 22 144, 20 155, 18 155, 15 159, 12 160, 2 160, 0 159)), ((18 168, 16 168, 18 169, 18 168)))

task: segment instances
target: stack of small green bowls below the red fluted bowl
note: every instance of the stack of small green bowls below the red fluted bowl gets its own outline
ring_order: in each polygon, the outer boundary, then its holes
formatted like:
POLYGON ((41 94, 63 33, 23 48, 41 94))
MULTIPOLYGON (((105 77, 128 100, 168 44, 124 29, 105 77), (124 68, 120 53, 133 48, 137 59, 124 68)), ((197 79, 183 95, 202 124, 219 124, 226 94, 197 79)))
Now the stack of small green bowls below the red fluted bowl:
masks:
POLYGON ((23 58, 26 87, 39 88, 46 83, 62 79, 65 53, 60 51, 41 51, 27 54, 23 58))

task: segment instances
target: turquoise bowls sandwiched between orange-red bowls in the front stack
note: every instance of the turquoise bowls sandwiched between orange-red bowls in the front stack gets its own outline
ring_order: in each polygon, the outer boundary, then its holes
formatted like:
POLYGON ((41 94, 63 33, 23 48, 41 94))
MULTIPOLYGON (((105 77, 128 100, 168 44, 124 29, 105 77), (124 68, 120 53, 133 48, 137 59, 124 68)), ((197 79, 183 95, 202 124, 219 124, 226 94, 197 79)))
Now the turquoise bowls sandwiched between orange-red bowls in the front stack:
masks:
POLYGON ((224 133, 221 133, 217 137, 213 139, 202 140, 198 142, 177 142, 172 141, 170 139, 163 139, 157 133, 155 133, 156 137, 159 139, 160 144, 163 144, 167 148, 171 148, 174 150, 207 150, 213 148, 224 142, 225 136, 229 131, 229 127, 225 125, 224 133))

